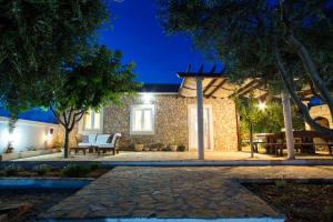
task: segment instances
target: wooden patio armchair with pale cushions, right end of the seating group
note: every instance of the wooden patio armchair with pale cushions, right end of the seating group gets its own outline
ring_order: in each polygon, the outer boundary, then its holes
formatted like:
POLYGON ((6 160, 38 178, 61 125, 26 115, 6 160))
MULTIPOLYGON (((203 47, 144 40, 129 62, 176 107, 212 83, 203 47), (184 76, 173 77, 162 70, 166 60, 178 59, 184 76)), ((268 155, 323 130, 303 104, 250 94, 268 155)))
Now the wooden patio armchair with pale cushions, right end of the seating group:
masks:
POLYGON ((107 153, 108 151, 112 151, 113 155, 115 155, 115 153, 119 153, 118 141, 120 138, 121 138, 120 133, 114 133, 113 135, 110 134, 98 135, 95 141, 98 153, 100 154, 101 151, 103 153, 107 153), (112 140, 110 140, 111 138, 112 140))

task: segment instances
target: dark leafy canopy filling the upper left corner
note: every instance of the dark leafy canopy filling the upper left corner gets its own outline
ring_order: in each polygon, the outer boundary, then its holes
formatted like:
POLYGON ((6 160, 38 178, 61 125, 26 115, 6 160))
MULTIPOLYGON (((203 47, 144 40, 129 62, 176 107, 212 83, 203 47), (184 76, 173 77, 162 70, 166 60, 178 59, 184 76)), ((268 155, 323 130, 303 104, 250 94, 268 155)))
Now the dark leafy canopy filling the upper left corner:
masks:
POLYGON ((0 99, 12 117, 48 99, 108 18, 104 0, 0 0, 0 99))

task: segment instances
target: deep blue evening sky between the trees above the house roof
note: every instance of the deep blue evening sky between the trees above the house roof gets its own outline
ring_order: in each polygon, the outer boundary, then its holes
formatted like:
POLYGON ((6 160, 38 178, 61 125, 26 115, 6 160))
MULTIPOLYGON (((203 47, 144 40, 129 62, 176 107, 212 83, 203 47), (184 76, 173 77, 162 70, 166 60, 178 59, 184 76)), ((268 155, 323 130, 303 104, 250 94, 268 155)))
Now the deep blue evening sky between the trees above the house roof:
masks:
POLYGON ((155 0, 123 0, 111 3, 113 29, 100 31, 99 42, 120 49, 124 62, 134 61, 138 80, 150 83, 179 83, 178 71, 213 63, 195 50, 185 36, 165 36, 157 18, 155 0))

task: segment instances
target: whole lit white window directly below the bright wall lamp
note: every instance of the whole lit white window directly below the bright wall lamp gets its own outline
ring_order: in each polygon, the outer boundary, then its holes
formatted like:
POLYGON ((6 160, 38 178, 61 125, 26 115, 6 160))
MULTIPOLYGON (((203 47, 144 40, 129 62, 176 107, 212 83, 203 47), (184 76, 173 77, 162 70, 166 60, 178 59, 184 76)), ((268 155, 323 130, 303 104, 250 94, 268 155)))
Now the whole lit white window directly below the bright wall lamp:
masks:
POLYGON ((154 105, 138 104, 131 107, 131 134, 154 133, 154 105))

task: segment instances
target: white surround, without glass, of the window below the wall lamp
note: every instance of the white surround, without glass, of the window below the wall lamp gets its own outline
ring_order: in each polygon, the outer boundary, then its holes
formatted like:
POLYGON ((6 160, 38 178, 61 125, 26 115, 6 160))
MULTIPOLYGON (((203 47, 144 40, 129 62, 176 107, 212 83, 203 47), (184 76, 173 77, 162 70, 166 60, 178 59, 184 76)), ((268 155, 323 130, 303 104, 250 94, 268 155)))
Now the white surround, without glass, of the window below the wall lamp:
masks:
POLYGON ((152 135, 155 133, 155 105, 154 104, 132 104, 130 107, 130 134, 131 135, 152 135), (138 131, 133 130, 134 128, 134 110, 135 109, 150 109, 152 117, 151 117, 151 122, 152 122, 152 129, 148 131, 138 131))

